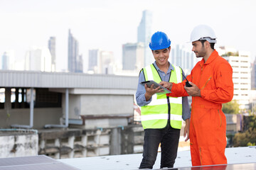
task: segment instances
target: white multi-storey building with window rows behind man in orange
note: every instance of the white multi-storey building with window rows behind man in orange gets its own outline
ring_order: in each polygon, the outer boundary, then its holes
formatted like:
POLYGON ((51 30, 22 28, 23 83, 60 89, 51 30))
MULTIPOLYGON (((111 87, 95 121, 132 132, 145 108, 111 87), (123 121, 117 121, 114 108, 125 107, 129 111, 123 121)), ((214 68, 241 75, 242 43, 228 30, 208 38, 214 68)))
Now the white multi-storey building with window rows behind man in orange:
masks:
POLYGON ((217 50, 233 68, 234 96, 240 109, 248 109, 251 91, 250 52, 237 51, 232 47, 220 47, 217 50))

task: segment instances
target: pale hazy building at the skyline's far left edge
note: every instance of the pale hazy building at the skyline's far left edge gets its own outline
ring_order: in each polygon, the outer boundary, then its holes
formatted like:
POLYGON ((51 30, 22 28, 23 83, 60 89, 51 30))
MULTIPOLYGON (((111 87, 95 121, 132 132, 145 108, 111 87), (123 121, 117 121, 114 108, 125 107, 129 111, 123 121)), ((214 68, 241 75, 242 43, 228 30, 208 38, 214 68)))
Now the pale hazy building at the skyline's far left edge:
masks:
POLYGON ((14 68, 14 51, 6 51, 1 56, 1 69, 15 69, 14 68))

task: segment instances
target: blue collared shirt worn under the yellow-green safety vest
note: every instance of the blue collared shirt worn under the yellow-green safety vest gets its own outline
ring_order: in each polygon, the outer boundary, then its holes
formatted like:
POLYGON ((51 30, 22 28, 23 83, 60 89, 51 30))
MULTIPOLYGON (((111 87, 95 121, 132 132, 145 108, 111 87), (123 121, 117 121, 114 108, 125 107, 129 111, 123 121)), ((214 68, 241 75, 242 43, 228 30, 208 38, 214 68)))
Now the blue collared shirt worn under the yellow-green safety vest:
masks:
MULTIPOLYGON (((169 63, 169 65, 170 65, 169 69, 165 73, 165 72, 162 72, 161 69, 159 69, 159 67, 157 67, 156 62, 154 62, 153 64, 154 64, 154 67, 156 67, 156 70, 159 73, 161 80, 168 82, 169 77, 171 76, 171 70, 174 70, 174 67, 169 63)), ((183 73, 183 71, 182 71, 182 73, 183 73)), ((147 104, 149 104, 151 102, 152 98, 150 98, 149 101, 146 101, 146 98, 145 98, 146 89, 145 89, 144 85, 140 84, 142 81, 145 81, 144 73, 140 72, 139 83, 138 83, 138 88, 137 88, 137 92, 136 92, 136 101, 139 106, 146 106, 147 104)), ((182 97, 182 119, 186 120, 190 117, 191 117, 191 113, 189 111, 189 106, 188 106, 188 97, 182 97)))

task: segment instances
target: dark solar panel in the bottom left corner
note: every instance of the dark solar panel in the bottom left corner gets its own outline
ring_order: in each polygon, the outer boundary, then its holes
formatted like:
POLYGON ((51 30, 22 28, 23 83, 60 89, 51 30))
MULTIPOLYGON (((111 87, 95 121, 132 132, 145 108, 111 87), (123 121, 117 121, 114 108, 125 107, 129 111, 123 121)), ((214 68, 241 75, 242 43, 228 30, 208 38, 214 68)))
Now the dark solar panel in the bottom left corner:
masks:
POLYGON ((0 170, 78 170, 45 155, 33 157, 11 157, 0 159, 0 170))

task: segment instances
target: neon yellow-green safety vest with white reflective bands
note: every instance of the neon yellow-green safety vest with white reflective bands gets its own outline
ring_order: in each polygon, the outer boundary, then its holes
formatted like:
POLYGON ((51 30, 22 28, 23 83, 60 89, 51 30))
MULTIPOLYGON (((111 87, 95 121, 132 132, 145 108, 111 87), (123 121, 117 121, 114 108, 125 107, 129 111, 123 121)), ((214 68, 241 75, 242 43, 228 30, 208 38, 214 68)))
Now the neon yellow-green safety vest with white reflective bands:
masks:
MULTIPOLYGON (((173 65, 169 82, 180 83, 182 81, 182 70, 173 65)), ((161 77, 153 64, 143 68, 145 81, 154 80, 161 82, 161 77)), ((166 94, 154 94, 152 101, 146 106, 142 106, 142 126, 144 129, 160 129, 167 125, 168 114, 172 128, 181 129, 182 124, 182 97, 169 97, 166 94), (169 101, 169 102, 168 102, 169 101), (169 113, 169 107, 171 111, 169 113)))

